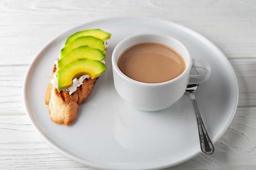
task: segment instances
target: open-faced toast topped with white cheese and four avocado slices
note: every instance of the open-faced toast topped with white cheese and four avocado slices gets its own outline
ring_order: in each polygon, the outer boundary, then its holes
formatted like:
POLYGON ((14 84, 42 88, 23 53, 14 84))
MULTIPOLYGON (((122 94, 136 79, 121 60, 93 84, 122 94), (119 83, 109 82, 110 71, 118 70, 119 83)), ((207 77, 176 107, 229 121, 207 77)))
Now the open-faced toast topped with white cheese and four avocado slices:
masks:
POLYGON ((45 95, 53 122, 69 125, 76 119, 79 104, 88 99, 96 80, 107 69, 104 59, 110 36, 101 29, 89 29, 67 38, 45 95))

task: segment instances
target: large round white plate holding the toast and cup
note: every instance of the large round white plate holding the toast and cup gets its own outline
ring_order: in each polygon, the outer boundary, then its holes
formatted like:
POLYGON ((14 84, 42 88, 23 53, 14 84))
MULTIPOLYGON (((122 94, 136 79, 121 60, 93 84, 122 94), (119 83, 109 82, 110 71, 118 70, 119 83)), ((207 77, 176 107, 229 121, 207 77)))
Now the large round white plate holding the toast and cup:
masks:
POLYGON ((202 35, 178 24, 154 18, 112 18, 78 26, 50 42, 29 67, 24 84, 28 117, 54 148, 68 157, 107 170, 155 170, 174 166, 200 153, 195 113, 189 95, 158 112, 132 108, 113 85, 111 55, 122 39, 136 33, 156 32, 182 41, 193 58, 206 60, 210 78, 195 96, 213 143, 227 130, 238 102, 238 85, 225 55, 202 35), (87 102, 80 105, 71 126, 50 120, 45 91, 54 61, 66 38, 76 31, 100 28, 108 40, 107 71, 97 80, 87 102))

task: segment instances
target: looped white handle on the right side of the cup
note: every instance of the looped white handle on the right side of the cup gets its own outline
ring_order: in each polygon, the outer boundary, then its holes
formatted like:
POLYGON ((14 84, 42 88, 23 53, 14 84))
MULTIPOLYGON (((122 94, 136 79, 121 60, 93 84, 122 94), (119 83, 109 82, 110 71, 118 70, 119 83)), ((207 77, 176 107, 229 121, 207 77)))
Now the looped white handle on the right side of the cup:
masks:
POLYGON ((210 65, 204 60, 200 59, 192 59, 192 67, 194 68, 202 68, 204 69, 204 73, 200 75, 190 75, 189 76, 189 84, 197 84, 202 83, 207 80, 211 74, 210 65))

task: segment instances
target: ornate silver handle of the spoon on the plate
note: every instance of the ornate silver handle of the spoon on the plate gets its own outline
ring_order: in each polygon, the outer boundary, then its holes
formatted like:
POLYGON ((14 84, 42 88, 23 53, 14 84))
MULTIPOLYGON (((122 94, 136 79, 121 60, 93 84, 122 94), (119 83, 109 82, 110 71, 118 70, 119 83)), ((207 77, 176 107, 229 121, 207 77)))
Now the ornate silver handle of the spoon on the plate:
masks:
POLYGON ((198 123, 198 132, 199 132, 201 150, 204 154, 207 154, 207 155, 212 154, 214 152, 214 147, 213 147, 213 144, 211 143, 211 139, 204 127, 204 123, 203 123, 202 117, 200 115, 198 104, 195 100, 195 95, 192 92, 192 93, 189 93, 189 96, 192 100, 192 103, 193 103, 193 106, 195 109, 195 116, 196 116, 196 120, 198 123))

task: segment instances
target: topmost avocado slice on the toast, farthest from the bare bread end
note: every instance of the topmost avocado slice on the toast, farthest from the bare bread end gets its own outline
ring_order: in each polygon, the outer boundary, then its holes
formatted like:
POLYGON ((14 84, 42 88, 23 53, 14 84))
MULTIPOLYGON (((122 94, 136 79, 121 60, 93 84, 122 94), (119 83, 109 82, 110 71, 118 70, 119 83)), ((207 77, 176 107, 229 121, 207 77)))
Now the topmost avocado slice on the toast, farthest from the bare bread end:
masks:
POLYGON ((110 33, 102 31, 101 29, 88 29, 88 30, 79 31, 79 32, 76 32, 76 33, 70 35, 67 38, 65 45, 78 37, 88 36, 88 35, 99 38, 102 41, 106 41, 106 40, 110 39, 110 36, 111 36, 110 33))

